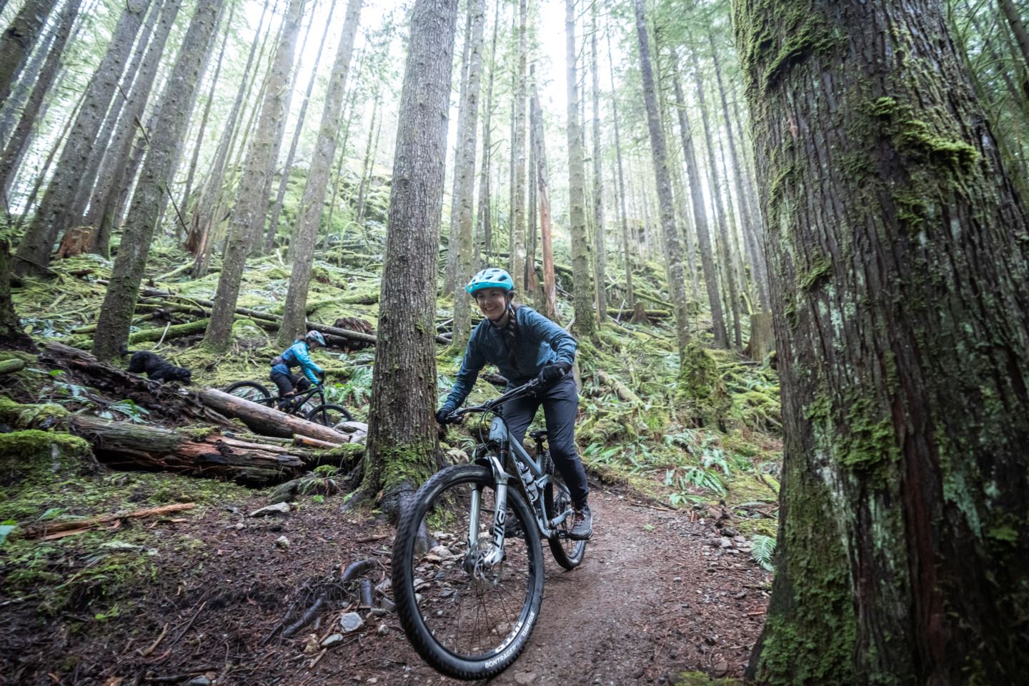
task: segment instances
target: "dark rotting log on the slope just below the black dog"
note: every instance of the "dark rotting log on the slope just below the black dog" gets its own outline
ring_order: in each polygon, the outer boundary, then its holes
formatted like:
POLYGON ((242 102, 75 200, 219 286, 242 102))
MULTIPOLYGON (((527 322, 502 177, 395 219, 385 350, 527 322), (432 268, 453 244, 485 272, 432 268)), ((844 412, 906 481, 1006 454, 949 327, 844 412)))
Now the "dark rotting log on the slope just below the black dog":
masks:
POLYGON ((77 348, 48 342, 39 360, 51 369, 64 370, 64 382, 96 389, 112 399, 128 398, 145 407, 153 419, 176 424, 194 421, 224 428, 234 426, 227 418, 202 403, 196 393, 131 374, 77 348))

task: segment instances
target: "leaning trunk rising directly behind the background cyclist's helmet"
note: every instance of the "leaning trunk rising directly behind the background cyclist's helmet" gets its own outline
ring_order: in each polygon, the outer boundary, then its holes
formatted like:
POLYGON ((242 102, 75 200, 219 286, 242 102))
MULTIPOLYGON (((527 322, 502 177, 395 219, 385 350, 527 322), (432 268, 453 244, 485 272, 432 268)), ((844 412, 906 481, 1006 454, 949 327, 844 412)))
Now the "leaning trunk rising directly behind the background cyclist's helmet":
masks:
POLYGON ((325 190, 328 188, 332 159, 335 157, 336 136, 340 131, 340 118, 343 115, 343 98, 347 92, 347 74, 350 71, 350 60, 354 52, 354 39, 357 36, 360 19, 361 0, 348 0, 340 46, 336 48, 328 91, 325 94, 318 140, 315 143, 311 168, 308 171, 308 183, 304 187, 297 212, 293 273, 289 278, 286 306, 277 338, 280 347, 290 345, 304 332, 307 323, 308 286, 311 283, 315 240, 318 237, 318 226, 325 207, 325 190))

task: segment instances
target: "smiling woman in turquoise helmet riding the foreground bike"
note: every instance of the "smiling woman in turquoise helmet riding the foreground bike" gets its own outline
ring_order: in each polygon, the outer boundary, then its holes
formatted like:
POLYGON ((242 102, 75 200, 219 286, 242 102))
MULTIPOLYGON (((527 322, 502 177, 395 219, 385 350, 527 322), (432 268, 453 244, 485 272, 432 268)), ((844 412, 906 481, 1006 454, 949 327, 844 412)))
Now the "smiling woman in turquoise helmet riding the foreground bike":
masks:
POLYGON ((571 492, 575 517, 569 536, 593 536, 593 517, 587 502, 590 486, 582 461, 575 450, 575 413, 578 390, 569 372, 577 344, 567 331, 532 308, 514 304, 510 275, 496 267, 483 269, 465 290, 475 298, 485 319, 471 332, 464 361, 436 421, 452 421, 451 413, 471 392, 478 372, 494 364, 507 378, 507 389, 539 378, 544 390, 535 397, 511 400, 502 412, 512 441, 521 442, 536 410, 543 406, 551 456, 571 492))

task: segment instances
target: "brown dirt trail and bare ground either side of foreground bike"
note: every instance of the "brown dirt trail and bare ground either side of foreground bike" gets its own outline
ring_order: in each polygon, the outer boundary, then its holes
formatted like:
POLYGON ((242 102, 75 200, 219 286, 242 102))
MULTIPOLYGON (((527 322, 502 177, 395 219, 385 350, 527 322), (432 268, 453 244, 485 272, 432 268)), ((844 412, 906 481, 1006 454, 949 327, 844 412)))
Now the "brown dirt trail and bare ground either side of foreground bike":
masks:
MULTIPOLYGON (((748 554, 721 547, 710 517, 690 520, 686 511, 596 486, 591 504, 596 534, 583 564, 565 572, 544 546, 539 623, 521 657, 485 683, 666 684, 682 672, 740 677, 760 631, 771 575, 748 554)), ((83 573, 98 553, 148 555, 153 572, 123 589, 128 602, 102 622, 94 616, 101 604, 87 598, 55 615, 40 599, 9 602, 0 591, 0 683, 460 683, 421 660, 393 614, 362 611, 360 629, 317 647, 339 631, 347 599, 326 604, 296 637, 269 641, 291 608, 310 604, 314 585, 339 579, 348 564, 376 559, 368 576, 385 579, 393 529, 340 514, 332 500, 277 517, 244 516, 263 505, 265 497, 254 494, 192 516, 127 521, 55 542, 64 556, 52 572, 83 573), (138 540, 134 532, 152 547, 105 545, 138 540), (276 543, 283 536, 288 547, 276 543)))

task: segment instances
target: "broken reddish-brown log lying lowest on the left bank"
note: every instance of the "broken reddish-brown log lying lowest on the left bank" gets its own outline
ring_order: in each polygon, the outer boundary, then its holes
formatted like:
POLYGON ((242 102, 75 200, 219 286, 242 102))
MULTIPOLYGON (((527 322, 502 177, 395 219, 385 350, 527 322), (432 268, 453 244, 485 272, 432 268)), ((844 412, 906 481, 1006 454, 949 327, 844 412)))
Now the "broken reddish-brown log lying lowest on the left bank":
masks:
POLYGON ((72 416, 69 429, 93 445, 97 459, 111 466, 228 478, 248 485, 289 480, 314 458, 278 444, 255 443, 189 430, 72 416))

